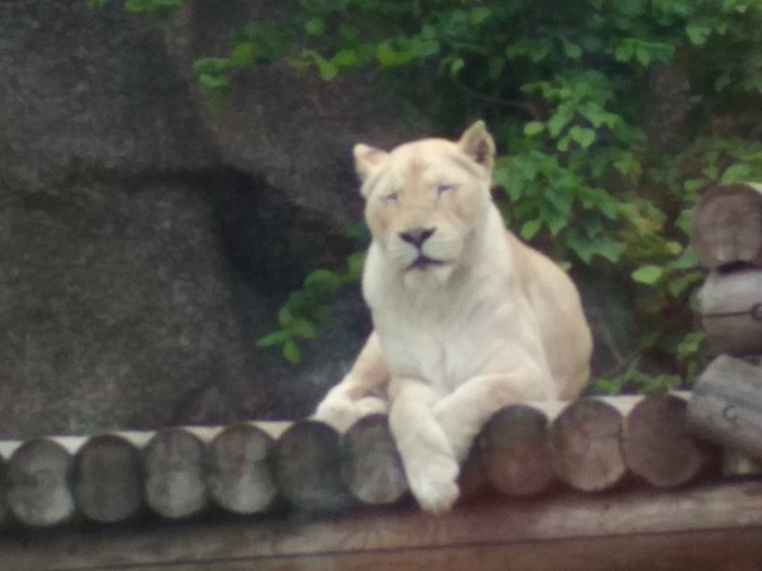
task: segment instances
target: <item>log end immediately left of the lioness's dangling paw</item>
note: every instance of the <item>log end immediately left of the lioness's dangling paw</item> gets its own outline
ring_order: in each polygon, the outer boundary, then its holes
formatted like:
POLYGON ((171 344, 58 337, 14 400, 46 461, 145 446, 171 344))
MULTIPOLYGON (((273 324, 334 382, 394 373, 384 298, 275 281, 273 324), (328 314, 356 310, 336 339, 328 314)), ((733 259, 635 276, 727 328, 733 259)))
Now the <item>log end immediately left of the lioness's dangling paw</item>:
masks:
POLYGON ((407 492, 407 480, 385 414, 357 421, 344 435, 342 477, 364 504, 393 504, 407 492))

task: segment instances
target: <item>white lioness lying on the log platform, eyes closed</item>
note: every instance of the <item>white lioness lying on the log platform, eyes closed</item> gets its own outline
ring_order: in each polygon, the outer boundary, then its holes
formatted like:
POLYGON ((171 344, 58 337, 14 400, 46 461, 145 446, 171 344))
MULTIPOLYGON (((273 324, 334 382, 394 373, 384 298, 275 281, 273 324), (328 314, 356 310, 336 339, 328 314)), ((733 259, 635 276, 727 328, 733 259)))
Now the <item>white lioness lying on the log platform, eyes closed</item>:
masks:
POLYGON ((591 335, 568 276, 506 233, 481 121, 457 142, 356 145, 354 154, 374 331, 316 417, 344 430, 383 409, 372 395, 384 395, 410 489, 439 512, 457 499, 458 461, 497 409, 580 393, 591 335))

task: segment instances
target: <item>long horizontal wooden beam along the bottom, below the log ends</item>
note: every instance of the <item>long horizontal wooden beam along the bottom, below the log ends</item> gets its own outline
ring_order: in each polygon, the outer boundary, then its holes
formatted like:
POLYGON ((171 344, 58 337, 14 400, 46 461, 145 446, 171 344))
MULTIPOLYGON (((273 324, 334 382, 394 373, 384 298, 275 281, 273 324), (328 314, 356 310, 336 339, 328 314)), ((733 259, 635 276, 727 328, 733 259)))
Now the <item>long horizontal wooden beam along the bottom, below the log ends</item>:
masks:
MULTIPOLYGON (((40 532, 37 532, 38 534, 40 532)), ((0 536, 0 569, 745 571, 762 564, 762 483, 566 493, 342 518, 265 516, 100 533, 0 536)))

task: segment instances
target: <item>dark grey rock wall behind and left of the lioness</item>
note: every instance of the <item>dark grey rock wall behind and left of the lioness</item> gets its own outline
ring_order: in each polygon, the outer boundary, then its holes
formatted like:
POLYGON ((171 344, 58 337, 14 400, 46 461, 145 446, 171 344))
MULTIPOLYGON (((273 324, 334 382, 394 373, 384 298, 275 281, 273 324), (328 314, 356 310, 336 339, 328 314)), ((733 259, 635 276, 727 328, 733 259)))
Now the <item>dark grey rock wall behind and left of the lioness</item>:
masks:
POLYGON ((351 145, 411 133, 371 79, 276 65, 211 116, 188 64, 249 3, 211 4, 0 2, 0 437, 305 414, 361 343, 354 291, 299 371, 254 347, 351 248, 351 145))

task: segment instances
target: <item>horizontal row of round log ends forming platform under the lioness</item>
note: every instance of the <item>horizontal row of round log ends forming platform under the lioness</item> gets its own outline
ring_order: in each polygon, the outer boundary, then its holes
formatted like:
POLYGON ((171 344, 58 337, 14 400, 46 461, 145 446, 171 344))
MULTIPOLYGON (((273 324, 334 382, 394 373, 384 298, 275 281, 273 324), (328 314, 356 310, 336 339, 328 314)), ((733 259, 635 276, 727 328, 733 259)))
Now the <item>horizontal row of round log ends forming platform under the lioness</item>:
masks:
MULTIPOLYGON (((690 435, 686 419, 685 395, 511 406, 475 442, 462 489, 601 492, 630 479, 681 486, 722 461, 717 448, 690 435)), ((37 438, 3 449, 0 519, 33 526, 121 522, 148 511, 181 519, 210 508, 336 510, 407 493, 383 415, 343 435, 307 420, 37 438)))

